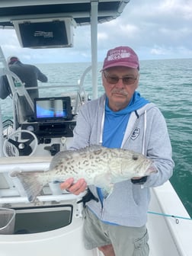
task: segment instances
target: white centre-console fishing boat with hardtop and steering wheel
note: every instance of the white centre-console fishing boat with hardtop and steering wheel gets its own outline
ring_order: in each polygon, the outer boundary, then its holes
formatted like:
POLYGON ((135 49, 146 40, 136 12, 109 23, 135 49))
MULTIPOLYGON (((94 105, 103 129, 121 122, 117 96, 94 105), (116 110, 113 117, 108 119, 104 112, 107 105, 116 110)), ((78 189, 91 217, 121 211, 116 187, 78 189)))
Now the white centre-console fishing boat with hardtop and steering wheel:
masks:
MULTIPOLYGON (((80 82, 68 85, 66 94, 59 98, 53 96, 32 102, 20 79, 9 71, 0 48, 0 75, 8 77, 14 106, 13 120, 5 120, 0 111, 1 256, 103 255, 97 249, 85 250, 83 245, 82 203, 77 203, 83 194, 75 196, 66 190, 61 191, 58 183, 50 183, 43 188, 38 200, 31 203, 22 184, 17 178, 11 178, 10 172, 46 170, 53 155, 70 146, 78 108, 89 100, 83 86, 89 72, 92 98, 98 97, 98 23, 118 18, 129 2, 1 0, 0 28, 14 29, 23 47, 72 47, 73 28, 91 26, 91 66, 85 69, 80 82), (58 27, 63 33, 54 39, 51 31, 58 27), (52 39, 47 40, 48 37, 52 39), (37 114, 37 104, 46 106, 50 101, 65 105, 67 114, 62 120, 55 118, 48 122, 43 117, 40 120, 22 120, 23 110, 18 95, 26 98, 34 114, 37 114), (17 118, 19 127, 15 125, 17 118)), ((192 255, 192 222, 169 181, 152 188, 148 217, 150 256, 192 255)))

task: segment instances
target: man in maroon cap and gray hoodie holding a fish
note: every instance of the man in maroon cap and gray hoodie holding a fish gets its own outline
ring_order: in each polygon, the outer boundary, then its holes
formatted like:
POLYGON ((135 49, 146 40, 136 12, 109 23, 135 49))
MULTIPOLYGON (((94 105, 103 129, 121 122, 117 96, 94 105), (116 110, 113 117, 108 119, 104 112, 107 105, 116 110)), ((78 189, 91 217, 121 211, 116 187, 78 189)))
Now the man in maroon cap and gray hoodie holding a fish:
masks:
MULTIPOLYGON (((105 256, 147 256, 149 189, 168 181, 174 168, 165 118, 136 91, 139 59, 130 47, 109 50, 101 74, 105 94, 82 106, 70 149, 91 145, 128 149, 145 155, 152 165, 147 171, 140 162, 133 178, 114 182, 111 191, 97 184, 89 186, 94 200, 88 201, 84 210, 85 248, 98 248, 105 256)), ((127 157, 131 158, 130 166, 138 161, 134 154, 127 157)), ((110 155, 109 160, 116 162, 116 155, 110 155)), ((78 181, 68 178, 61 184, 73 194, 80 194, 87 186, 83 177, 78 181)))

